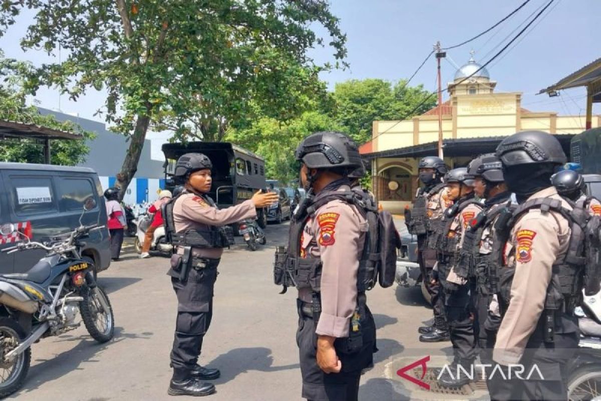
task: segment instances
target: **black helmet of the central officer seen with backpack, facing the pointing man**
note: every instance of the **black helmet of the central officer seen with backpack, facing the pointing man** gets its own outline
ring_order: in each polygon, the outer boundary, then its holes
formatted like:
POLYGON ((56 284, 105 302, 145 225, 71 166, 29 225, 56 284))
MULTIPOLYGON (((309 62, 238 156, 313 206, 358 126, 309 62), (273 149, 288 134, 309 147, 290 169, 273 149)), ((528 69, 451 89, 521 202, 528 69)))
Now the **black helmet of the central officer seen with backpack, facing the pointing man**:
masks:
POLYGON ((305 138, 296 148, 296 160, 308 168, 348 168, 363 166, 359 148, 341 132, 316 132, 305 138))

